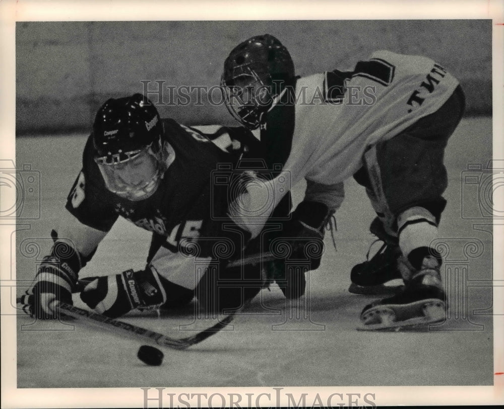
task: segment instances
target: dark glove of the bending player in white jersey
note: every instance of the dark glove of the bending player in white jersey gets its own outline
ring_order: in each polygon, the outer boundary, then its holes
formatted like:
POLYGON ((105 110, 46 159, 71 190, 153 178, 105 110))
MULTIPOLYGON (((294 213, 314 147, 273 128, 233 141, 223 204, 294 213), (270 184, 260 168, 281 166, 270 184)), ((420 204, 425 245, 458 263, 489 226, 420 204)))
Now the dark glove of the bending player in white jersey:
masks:
MULTIPOLYGON (((290 260, 308 260, 309 269, 320 266, 324 254, 324 230, 334 212, 320 202, 303 201, 292 212, 289 221, 270 242, 270 251, 281 254, 285 243, 290 247, 290 260)), ((281 257, 279 257, 281 258, 281 257)))

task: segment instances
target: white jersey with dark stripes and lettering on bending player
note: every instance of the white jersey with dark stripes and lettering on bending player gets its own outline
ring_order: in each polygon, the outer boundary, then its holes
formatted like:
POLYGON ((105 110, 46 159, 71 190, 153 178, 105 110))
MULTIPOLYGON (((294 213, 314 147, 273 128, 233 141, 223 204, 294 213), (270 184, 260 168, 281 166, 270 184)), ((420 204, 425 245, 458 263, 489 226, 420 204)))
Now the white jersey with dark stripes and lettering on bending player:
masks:
MULTIPOLYGON (((239 199, 240 212, 231 217, 255 236, 266 219, 251 209, 273 209, 283 192, 303 178, 342 191, 342 182, 362 167, 370 146, 434 113, 458 84, 429 58, 390 51, 372 53, 353 71, 299 78, 292 145, 283 171, 266 188, 247 186, 248 193, 239 199)), ((342 199, 342 192, 335 194, 342 199)))

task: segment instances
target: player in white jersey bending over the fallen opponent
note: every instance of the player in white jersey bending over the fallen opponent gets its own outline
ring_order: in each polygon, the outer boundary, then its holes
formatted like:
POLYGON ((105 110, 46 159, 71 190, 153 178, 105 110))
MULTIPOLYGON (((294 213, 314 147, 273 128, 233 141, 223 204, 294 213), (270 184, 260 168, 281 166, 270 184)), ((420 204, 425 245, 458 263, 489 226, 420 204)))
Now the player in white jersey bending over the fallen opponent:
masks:
MULTIPOLYGON (((349 290, 380 294, 394 278, 404 286, 364 307, 363 329, 445 319, 442 257, 431 243, 446 206, 444 149, 464 112, 457 79, 429 58, 390 51, 376 51, 349 70, 298 77, 287 49, 266 34, 231 51, 221 85, 233 117, 260 134, 270 162, 282 166, 270 184, 280 186, 287 174, 292 186, 306 180, 295 210, 310 215, 306 236, 323 234, 346 179, 365 187, 376 212, 371 232, 385 244, 352 269, 349 290)), ((255 190, 242 195, 232 215, 253 237, 261 229, 257 217, 255 224, 248 217, 261 200, 255 190)))

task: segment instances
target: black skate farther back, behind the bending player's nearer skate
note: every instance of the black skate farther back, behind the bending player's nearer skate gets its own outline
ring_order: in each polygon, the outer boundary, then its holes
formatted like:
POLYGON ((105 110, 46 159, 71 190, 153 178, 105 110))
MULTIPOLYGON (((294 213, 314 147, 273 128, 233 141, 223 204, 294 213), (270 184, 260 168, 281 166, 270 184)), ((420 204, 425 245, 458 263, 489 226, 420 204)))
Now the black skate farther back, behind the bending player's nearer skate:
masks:
POLYGON ((377 217, 372 221, 369 230, 377 237, 376 241, 383 241, 384 244, 370 260, 368 252, 368 260, 352 268, 352 283, 348 291, 353 294, 396 294, 404 288, 397 263, 401 257, 398 239, 387 234, 382 221, 377 217))

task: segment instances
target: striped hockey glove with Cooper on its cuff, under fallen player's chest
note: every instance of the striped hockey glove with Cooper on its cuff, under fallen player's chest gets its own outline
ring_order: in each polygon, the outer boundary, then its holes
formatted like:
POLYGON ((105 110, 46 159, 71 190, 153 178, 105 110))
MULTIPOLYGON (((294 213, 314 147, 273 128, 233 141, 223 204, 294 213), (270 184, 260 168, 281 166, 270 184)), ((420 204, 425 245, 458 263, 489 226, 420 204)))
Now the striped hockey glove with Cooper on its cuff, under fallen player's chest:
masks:
POLYGON ((136 308, 151 309, 164 304, 166 292, 158 273, 147 267, 96 277, 84 287, 81 299, 98 313, 116 318, 136 308))

